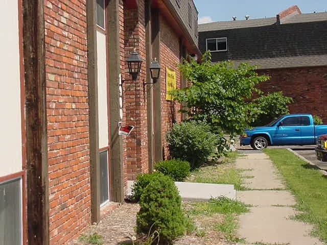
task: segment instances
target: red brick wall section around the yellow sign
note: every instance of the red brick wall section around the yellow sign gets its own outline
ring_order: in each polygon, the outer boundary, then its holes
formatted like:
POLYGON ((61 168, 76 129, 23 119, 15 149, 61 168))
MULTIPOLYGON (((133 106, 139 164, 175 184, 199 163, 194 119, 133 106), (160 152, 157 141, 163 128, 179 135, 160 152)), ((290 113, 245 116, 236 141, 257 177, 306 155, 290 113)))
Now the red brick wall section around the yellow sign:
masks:
POLYGON ((180 88, 180 72, 176 65, 179 63, 179 38, 170 28, 165 18, 160 17, 160 65, 161 65, 161 135, 164 148, 164 159, 169 158, 166 134, 174 122, 181 120, 179 103, 166 100, 166 67, 176 72, 176 87, 180 88))

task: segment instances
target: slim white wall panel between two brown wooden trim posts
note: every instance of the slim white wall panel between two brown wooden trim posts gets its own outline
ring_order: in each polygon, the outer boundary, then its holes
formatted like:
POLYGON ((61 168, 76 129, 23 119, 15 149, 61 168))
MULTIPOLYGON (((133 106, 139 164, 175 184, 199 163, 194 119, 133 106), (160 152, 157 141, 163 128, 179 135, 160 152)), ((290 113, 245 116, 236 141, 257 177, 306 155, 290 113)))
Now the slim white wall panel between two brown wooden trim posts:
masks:
POLYGON ((97 31, 99 147, 108 146, 106 36, 97 31))

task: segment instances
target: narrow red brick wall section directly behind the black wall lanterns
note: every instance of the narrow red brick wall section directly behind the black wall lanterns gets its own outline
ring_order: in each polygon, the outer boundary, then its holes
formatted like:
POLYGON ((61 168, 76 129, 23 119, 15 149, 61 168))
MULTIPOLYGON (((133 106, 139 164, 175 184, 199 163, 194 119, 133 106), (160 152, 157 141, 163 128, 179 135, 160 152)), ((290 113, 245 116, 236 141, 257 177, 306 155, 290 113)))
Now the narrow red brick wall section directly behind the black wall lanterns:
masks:
MULTIPOLYGON (((125 60, 134 48, 143 59, 137 80, 126 81, 123 85, 124 124, 135 126, 130 136, 124 136, 124 173, 128 180, 134 180, 138 173, 148 172, 147 87, 143 85, 147 72, 144 1, 139 0, 137 7, 124 8, 125 60)), ((122 71, 125 79, 131 79, 126 66, 122 71)))

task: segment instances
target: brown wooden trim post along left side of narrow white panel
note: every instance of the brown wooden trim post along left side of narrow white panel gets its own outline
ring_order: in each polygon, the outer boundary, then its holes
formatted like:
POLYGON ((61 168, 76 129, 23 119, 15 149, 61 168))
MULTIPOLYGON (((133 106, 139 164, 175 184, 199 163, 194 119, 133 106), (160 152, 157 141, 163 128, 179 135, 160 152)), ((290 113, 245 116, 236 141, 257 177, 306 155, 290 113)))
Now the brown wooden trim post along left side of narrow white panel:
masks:
POLYGON ((89 97, 91 221, 100 221, 100 159, 97 77, 97 11, 96 1, 86 1, 87 15, 87 80, 89 97))

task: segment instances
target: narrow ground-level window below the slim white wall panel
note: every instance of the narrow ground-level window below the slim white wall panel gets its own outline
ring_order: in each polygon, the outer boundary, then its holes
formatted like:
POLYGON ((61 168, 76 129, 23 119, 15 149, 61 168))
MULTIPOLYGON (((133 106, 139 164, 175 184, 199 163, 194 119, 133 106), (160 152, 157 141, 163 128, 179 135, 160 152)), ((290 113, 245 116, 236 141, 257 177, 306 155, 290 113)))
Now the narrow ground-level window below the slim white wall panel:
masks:
POLYGON ((109 200, 108 151, 100 152, 100 203, 109 200))

